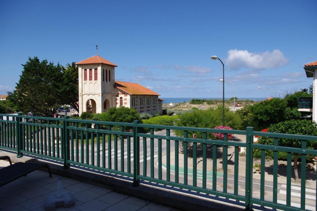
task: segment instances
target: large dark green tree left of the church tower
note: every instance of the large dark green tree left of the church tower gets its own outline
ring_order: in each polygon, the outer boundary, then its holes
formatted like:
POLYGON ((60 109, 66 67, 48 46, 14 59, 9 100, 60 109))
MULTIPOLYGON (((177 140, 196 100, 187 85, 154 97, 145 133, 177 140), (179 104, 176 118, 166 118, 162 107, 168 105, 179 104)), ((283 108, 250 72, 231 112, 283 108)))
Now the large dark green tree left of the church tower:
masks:
POLYGON ((29 58, 22 66, 23 71, 16 83, 16 90, 9 93, 9 100, 18 111, 53 116, 60 105, 75 105, 74 102, 78 99, 78 82, 76 87, 74 63, 63 68, 46 59, 40 61, 34 57, 29 58))

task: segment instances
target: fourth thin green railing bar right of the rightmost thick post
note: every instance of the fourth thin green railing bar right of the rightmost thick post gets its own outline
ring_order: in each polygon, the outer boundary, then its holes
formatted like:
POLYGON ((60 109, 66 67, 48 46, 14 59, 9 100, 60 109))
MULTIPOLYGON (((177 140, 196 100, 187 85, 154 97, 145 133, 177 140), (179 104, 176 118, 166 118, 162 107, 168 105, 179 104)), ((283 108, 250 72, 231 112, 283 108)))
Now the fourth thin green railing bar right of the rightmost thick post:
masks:
MULTIPOLYGON (((301 140, 301 149, 306 150, 306 147, 307 147, 307 141, 301 140)), ((306 200, 306 154, 301 154, 301 210, 305 210, 305 200, 306 200)))

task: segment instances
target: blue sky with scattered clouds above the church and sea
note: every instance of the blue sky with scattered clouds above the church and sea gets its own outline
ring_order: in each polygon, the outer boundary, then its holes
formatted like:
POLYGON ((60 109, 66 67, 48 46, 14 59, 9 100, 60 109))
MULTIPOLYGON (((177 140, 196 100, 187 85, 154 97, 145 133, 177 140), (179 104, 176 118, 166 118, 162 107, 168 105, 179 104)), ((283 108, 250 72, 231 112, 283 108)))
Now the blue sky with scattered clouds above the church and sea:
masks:
POLYGON ((0 94, 29 57, 66 65, 96 55, 115 79, 162 98, 281 97, 308 88, 317 1, 0 1, 0 94), (261 86, 265 89, 259 89, 261 86), (281 91, 281 92, 277 92, 281 91), (233 86, 225 82, 225 97, 233 86))

